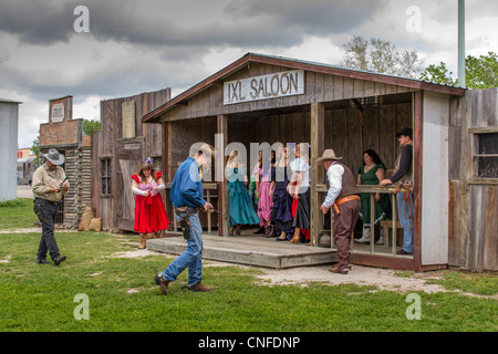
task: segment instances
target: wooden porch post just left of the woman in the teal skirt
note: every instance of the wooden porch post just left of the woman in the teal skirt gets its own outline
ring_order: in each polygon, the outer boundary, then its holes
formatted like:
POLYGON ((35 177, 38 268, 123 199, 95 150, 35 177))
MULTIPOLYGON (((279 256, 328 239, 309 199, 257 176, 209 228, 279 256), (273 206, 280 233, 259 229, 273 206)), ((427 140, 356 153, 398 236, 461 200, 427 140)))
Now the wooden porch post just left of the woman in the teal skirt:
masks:
POLYGON ((227 147, 227 115, 220 114, 217 117, 217 137, 216 137, 216 164, 218 181, 218 210, 222 216, 218 216, 218 235, 228 237, 228 191, 227 179, 225 178, 225 166, 227 165, 227 157, 225 156, 225 148, 227 147))

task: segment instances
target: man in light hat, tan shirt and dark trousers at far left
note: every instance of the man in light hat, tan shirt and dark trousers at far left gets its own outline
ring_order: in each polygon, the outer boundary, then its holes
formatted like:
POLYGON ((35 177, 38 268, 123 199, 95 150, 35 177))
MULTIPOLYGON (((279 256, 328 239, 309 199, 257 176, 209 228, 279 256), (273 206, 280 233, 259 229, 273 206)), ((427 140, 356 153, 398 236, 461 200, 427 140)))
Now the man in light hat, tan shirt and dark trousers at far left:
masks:
POLYGON ((59 252, 53 229, 59 201, 68 194, 69 183, 64 169, 60 166, 64 164, 64 156, 54 148, 42 155, 45 163, 33 175, 34 212, 42 223, 37 263, 46 264, 46 252, 50 251, 53 263, 59 266, 65 260, 65 256, 61 256, 59 252))

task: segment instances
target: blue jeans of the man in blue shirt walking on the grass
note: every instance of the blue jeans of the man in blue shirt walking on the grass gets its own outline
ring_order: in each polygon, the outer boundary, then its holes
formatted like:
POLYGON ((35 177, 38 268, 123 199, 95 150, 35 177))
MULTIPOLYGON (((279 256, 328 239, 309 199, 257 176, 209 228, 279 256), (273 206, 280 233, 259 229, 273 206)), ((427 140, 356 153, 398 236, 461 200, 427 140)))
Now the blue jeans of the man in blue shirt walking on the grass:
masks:
POLYGON ((188 221, 190 239, 187 241, 187 248, 162 274, 164 279, 175 281, 188 268, 188 287, 191 287, 203 280, 203 227, 197 214, 189 216, 188 221))

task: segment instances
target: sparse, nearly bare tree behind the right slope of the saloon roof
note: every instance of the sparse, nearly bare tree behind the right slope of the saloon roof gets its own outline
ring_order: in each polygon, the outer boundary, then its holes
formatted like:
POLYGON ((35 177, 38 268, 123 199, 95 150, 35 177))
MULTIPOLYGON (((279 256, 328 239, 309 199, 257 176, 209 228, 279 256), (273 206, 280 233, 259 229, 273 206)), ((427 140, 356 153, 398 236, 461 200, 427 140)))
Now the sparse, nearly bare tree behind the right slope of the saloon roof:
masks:
POLYGON ((404 77, 416 77, 423 69, 416 51, 401 51, 390 41, 353 35, 343 48, 341 65, 345 67, 404 77))

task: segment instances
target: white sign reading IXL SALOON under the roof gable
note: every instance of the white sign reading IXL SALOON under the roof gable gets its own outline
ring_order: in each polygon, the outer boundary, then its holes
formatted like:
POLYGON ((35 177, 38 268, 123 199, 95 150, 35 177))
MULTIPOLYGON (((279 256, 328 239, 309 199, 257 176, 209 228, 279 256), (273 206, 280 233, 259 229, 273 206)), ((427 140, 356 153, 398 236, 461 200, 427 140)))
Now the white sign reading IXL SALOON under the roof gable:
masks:
POLYGON ((224 83, 224 104, 245 103, 304 94, 304 71, 253 76, 224 83))

